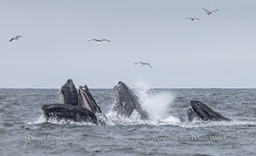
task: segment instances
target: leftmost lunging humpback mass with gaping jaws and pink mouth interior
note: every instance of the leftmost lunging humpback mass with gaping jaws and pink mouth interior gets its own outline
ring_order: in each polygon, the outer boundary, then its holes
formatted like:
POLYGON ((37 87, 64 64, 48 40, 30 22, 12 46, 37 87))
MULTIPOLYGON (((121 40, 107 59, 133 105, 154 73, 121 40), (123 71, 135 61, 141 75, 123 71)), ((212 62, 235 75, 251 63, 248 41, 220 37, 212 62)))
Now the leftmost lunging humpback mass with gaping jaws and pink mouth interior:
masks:
MULTIPOLYGON (((91 122, 103 124, 100 106, 96 104, 87 86, 80 86, 79 93, 73 85, 72 79, 68 79, 60 89, 62 104, 43 105, 45 119, 64 119, 76 122, 91 122), (99 113, 99 114, 98 114, 99 113)), ((105 115, 103 114, 103 117, 105 115)))

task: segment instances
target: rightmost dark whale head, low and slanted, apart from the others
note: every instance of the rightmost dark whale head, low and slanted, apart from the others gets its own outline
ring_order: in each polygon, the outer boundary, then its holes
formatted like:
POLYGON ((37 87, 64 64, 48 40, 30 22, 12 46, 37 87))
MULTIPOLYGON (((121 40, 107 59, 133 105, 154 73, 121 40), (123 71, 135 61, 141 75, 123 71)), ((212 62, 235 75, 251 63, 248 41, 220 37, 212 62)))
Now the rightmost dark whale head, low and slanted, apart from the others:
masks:
POLYGON ((212 121, 221 121, 221 120, 227 120, 230 121, 232 119, 225 118, 223 115, 221 115, 218 112, 214 112, 209 108, 207 105, 204 105, 202 102, 197 100, 190 101, 190 105, 192 108, 190 108, 187 111, 188 114, 188 120, 191 121, 195 118, 206 120, 212 120, 212 121))

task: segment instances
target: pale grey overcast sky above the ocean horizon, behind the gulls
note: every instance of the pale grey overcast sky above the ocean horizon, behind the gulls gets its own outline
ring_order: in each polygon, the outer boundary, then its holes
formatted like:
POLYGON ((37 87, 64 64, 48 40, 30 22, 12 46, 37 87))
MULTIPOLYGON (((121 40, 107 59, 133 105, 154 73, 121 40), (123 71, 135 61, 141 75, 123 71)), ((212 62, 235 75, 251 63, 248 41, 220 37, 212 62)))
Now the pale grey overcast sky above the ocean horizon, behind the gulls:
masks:
POLYGON ((255 0, 6 0, 0 88, 256 88, 255 0), (202 7, 219 9, 208 16, 202 7), (185 17, 199 17, 191 22, 185 17), (23 38, 9 42, 17 35, 23 38), (108 38, 111 43, 88 42, 108 38), (149 62, 148 66, 135 65, 149 62))

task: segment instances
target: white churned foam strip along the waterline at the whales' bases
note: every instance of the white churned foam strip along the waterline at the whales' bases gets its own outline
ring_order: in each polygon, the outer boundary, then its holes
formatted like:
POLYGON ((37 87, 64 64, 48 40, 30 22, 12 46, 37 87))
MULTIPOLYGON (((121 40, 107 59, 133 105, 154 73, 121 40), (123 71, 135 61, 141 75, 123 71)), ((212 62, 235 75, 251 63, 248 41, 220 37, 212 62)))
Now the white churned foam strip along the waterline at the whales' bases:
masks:
MULTIPOLYGON (((46 122, 44 115, 40 116, 38 119, 28 121, 26 124, 41 124, 46 122)), ((65 119, 49 119, 50 123, 58 124, 58 125, 95 125, 93 123, 87 122, 75 122, 73 120, 65 120, 65 119)), ((138 112, 133 112, 130 118, 121 118, 117 116, 115 112, 107 113, 106 125, 176 125, 184 128, 199 128, 199 127, 212 127, 212 126, 236 126, 236 125, 247 125, 247 126, 256 126, 255 121, 239 121, 234 119, 232 121, 203 121, 203 120, 193 120, 193 121, 184 121, 182 122, 180 119, 169 116, 164 119, 148 119, 142 120, 140 119, 140 115, 138 112)))

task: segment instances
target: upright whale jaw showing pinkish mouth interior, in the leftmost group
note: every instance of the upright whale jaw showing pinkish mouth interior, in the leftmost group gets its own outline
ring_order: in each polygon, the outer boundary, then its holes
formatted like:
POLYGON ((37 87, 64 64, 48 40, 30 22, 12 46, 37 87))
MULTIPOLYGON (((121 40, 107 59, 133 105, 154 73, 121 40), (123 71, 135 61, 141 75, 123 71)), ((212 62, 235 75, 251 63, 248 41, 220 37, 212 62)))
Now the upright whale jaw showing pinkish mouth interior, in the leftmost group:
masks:
POLYGON ((96 104, 92 94, 89 92, 87 86, 80 86, 79 89, 79 106, 85 107, 91 112, 101 112, 100 107, 96 104))

